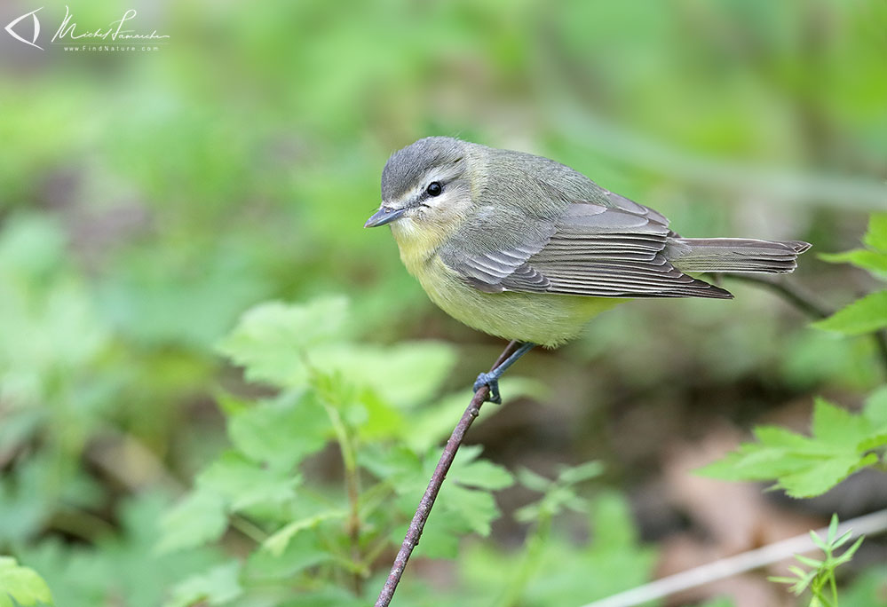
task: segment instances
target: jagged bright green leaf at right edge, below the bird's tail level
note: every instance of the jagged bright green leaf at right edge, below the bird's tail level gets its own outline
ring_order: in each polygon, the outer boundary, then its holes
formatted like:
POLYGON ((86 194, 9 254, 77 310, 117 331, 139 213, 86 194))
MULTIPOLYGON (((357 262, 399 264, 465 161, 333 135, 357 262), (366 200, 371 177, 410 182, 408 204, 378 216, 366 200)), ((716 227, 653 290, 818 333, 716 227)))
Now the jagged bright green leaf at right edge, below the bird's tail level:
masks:
POLYGON ((700 473, 724 480, 775 480, 796 498, 826 493, 857 470, 883 464, 887 388, 872 394, 859 414, 817 399, 810 437, 777 426, 759 426, 755 436, 758 442, 740 445, 700 473))

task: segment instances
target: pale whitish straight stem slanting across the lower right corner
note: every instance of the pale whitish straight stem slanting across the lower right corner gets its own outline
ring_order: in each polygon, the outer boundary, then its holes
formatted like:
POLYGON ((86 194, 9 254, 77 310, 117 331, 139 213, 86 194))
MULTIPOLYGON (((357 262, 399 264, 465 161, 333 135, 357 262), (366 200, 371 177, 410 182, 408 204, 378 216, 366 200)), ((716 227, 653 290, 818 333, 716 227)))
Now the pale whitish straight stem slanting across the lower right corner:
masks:
MULTIPOLYGON (((853 536, 872 535, 887 531, 887 509, 878 510, 865 516, 851 518, 838 525, 837 537, 852 531, 853 536)), ((820 538, 826 537, 828 527, 818 530, 820 538)), ((739 573, 750 572, 764 565, 778 563, 796 554, 804 554, 817 549, 810 534, 804 533, 788 540, 774 542, 763 548, 756 548, 740 555, 728 556, 714 563, 707 563, 685 572, 657 579, 644 586, 632 588, 618 595, 608 596, 583 607, 632 607, 673 595, 688 588, 694 588, 729 578, 739 573)))

